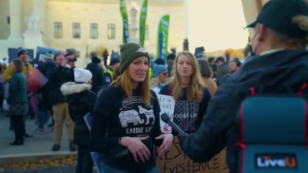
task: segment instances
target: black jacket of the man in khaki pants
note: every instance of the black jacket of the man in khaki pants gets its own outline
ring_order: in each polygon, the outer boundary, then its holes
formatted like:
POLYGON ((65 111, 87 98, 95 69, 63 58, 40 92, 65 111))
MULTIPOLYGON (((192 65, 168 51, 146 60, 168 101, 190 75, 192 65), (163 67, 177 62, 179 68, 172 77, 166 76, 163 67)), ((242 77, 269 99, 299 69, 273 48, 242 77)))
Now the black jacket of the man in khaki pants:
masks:
POLYGON ((72 81, 71 70, 66 67, 55 67, 48 71, 48 80, 51 87, 51 103, 56 105, 58 103, 65 103, 65 98, 60 91, 61 85, 65 82, 72 81))

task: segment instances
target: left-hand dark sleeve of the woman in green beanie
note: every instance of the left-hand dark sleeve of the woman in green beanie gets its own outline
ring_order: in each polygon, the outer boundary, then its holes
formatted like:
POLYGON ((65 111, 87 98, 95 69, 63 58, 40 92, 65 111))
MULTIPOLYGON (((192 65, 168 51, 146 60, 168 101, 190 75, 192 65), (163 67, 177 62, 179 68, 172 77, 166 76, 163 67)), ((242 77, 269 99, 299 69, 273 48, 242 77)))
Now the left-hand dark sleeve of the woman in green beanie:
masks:
POLYGON ((105 137, 107 123, 110 122, 110 108, 112 107, 110 99, 112 93, 103 90, 99 93, 94 110, 92 113, 92 127, 89 137, 89 148, 93 152, 107 152, 113 147, 120 146, 118 137, 105 137))

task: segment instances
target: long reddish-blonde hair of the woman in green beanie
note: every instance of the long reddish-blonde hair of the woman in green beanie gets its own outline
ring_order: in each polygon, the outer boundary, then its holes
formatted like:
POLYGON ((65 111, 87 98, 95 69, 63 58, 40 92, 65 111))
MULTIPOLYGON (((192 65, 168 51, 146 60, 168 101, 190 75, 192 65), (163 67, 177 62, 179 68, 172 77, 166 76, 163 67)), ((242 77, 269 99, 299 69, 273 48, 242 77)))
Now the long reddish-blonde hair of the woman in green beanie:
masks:
MULTIPOLYGON (((132 80, 127 68, 123 71, 122 75, 114 81, 114 87, 123 91, 128 98, 133 97, 132 80)), ((148 71, 146 73, 144 81, 138 83, 137 90, 141 92, 141 97, 144 98, 145 104, 150 105, 150 99, 152 96, 150 94, 148 71)))

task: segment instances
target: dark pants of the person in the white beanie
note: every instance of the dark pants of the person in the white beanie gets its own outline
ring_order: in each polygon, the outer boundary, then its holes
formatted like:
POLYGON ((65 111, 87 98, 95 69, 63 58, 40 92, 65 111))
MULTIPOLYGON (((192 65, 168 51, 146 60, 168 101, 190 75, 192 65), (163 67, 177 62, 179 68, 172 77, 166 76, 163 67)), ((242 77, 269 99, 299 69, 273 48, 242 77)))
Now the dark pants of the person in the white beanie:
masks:
POLYGON ((84 148, 78 145, 78 162, 76 166, 76 173, 92 173, 93 159, 89 148, 84 148))

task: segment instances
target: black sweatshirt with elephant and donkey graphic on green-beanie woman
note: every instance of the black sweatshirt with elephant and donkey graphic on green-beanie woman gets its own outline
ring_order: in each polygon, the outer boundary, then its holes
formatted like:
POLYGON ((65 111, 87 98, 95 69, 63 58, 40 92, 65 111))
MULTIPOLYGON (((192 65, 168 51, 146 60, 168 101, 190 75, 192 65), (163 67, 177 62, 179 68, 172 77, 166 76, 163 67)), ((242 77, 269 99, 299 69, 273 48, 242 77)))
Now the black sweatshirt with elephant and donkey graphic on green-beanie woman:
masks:
POLYGON ((162 134, 160 126, 160 105, 155 92, 151 91, 150 105, 146 105, 137 90, 133 97, 127 98, 117 88, 110 86, 102 90, 93 111, 93 124, 90 132, 90 149, 100 152, 103 162, 113 168, 143 172, 156 165, 153 144, 162 134), (150 151, 149 161, 136 163, 132 153, 119 144, 120 137, 144 137, 143 141, 150 151))

